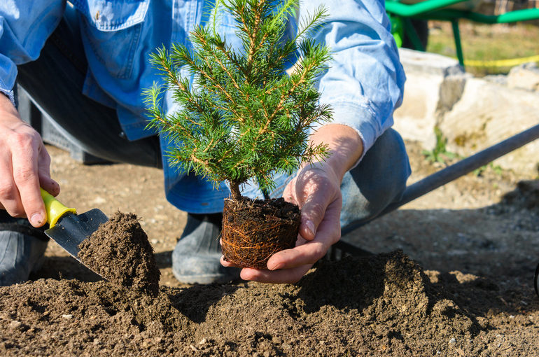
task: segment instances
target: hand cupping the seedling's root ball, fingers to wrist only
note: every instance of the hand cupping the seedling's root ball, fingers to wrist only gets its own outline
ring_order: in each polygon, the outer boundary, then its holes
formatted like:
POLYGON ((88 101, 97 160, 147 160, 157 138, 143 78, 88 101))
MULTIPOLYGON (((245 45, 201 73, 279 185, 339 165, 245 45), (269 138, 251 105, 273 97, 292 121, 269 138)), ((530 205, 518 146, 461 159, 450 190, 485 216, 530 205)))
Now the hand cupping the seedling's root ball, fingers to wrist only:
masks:
MULTIPOLYGON (((342 195, 340 179, 329 165, 304 167, 286 186, 283 197, 300 206, 300 235, 296 246, 272 255, 268 270, 244 268, 241 279, 263 283, 295 283, 323 258, 341 236, 342 195)), ((221 258, 225 266, 235 266, 221 258)))

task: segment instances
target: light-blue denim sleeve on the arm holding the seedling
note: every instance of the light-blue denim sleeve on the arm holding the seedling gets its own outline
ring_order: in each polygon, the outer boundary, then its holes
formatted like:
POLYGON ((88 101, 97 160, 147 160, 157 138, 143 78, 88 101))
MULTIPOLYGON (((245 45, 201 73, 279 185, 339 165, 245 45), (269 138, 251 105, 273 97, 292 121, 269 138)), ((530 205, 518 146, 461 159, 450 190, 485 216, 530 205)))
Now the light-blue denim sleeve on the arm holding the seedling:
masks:
POLYGON ((378 0, 304 1, 300 18, 319 6, 329 18, 315 39, 332 51, 330 68, 319 83, 320 102, 332 107, 332 123, 358 132, 365 155, 393 125, 393 111, 402 102, 405 73, 391 24, 378 0))

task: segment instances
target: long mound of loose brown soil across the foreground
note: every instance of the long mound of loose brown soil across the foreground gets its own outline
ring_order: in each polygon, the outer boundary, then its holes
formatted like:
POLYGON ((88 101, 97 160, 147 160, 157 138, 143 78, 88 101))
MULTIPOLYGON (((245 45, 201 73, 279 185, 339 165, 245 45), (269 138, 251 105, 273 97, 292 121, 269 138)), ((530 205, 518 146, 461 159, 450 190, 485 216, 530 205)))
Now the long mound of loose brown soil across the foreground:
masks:
POLYGON ((323 261, 296 285, 162 286, 155 298, 40 279, 0 288, 0 354, 532 356, 535 305, 477 276, 423 272, 402 251, 323 261))

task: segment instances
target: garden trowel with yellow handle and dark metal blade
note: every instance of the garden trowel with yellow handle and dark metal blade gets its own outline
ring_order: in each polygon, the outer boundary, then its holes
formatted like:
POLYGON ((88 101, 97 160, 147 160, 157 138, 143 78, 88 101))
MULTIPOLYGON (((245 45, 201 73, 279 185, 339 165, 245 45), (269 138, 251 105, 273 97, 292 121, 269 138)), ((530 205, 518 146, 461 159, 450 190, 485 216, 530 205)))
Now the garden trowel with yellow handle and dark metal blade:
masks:
POLYGON ((45 202, 49 229, 45 235, 54 239, 73 258, 80 261, 78 245, 92 235, 99 225, 109 221, 109 218, 99 209, 91 209, 84 214, 77 214, 76 209, 65 207, 50 193, 41 188, 41 197, 45 202))

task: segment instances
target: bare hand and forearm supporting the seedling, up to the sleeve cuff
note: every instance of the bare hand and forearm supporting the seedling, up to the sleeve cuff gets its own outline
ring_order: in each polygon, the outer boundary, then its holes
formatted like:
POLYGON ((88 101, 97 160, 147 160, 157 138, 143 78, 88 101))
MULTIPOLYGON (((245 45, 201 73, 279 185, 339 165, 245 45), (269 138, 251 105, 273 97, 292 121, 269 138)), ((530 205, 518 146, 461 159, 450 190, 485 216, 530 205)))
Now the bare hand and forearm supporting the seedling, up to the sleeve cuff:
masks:
MULTIPOLYGON (((340 216, 344 174, 363 153, 358 133, 345 125, 321 127, 311 144, 324 143, 330 156, 325 162, 306 165, 286 186, 283 197, 300 206, 301 225, 296 246, 272 255, 267 270, 244 268, 241 279, 263 283, 295 283, 322 258, 341 237, 340 216)), ((225 267, 235 267, 221 258, 225 267)))

